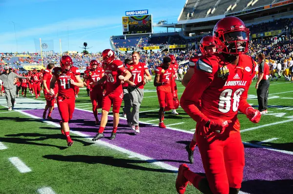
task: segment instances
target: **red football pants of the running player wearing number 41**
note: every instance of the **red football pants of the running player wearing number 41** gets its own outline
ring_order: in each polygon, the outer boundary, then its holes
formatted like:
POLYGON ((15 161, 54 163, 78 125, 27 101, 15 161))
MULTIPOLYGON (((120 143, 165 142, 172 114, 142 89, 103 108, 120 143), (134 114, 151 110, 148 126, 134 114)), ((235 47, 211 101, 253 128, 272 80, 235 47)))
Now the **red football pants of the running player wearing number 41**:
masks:
POLYGON ((58 110, 62 118, 62 121, 68 122, 73 116, 73 112, 75 108, 75 98, 74 97, 64 98, 62 96, 58 96, 57 105, 58 105, 58 110))

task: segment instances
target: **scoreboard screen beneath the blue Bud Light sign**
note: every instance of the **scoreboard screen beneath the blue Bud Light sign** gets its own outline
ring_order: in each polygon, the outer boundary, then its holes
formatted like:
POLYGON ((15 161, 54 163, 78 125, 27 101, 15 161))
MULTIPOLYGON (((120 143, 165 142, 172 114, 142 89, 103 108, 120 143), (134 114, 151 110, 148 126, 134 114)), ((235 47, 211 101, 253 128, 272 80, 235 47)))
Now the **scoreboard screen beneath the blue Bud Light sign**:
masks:
POLYGON ((123 35, 152 34, 152 15, 122 17, 123 35))

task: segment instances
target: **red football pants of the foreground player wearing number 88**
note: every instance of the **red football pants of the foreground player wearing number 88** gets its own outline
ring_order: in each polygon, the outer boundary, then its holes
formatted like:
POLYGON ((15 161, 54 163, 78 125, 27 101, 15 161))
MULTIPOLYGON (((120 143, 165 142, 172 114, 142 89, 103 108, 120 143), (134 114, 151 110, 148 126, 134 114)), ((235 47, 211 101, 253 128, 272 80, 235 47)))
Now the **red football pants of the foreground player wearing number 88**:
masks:
POLYGON ((196 139, 211 192, 229 194, 229 187, 241 188, 245 162, 240 133, 209 138, 196 133, 196 139))

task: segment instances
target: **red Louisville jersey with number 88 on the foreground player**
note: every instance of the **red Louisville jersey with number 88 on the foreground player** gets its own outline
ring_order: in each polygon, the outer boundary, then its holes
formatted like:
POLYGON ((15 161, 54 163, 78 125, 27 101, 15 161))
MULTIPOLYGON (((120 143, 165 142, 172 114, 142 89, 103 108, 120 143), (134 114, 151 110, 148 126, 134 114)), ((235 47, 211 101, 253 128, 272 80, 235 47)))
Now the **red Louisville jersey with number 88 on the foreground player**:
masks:
MULTIPOLYGON (((250 106, 247 95, 255 67, 252 58, 247 55, 239 55, 238 65, 224 64, 223 61, 225 59, 221 54, 198 60, 194 75, 181 97, 181 106, 196 121, 201 121, 204 116, 209 119, 231 120, 232 123, 226 130, 236 132, 240 130, 238 109, 243 113, 250 106), (222 78, 225 73, 226 76, 222 78), (191 105, 199 99, 201 112, 191 105)), ((200 134, 205 135, 202 132, 200 134)))

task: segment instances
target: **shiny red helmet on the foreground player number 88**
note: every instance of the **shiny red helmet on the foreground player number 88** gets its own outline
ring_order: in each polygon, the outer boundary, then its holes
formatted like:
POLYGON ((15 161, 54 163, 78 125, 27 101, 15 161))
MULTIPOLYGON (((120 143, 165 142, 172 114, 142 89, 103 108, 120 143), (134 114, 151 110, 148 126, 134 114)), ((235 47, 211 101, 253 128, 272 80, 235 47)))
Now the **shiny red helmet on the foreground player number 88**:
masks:
POLYGON ((212 34, 218 52, 238 55, 247 53, 249 33, 241 19, 230 16, 220 19, 212 34))

